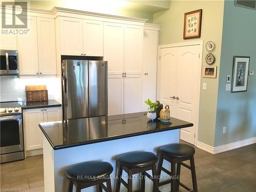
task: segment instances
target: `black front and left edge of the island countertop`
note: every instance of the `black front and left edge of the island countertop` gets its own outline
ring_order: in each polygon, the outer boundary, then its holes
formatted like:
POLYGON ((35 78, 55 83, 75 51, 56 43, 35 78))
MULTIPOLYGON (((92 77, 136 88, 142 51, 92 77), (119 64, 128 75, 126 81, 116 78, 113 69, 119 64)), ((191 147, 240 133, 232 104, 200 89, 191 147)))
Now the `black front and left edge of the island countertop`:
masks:
POLYGON ((151 133, 159 133, 159 132, 177 130, 177 129, 182 129, 182 128, 185 128, 185 127, 194 126, 193 123, 188 123, 188 124, 178 125, 176 127, 169 127, 169 128, 166 128, 166 129, 150 130, 150 131, 145 131, 145 132, 141 132, 141 133, 127 134, 127 135, 122 135, 122 136, 113 136, 113 137, 109 137, 109 138, 107 137, 107 138, 102 138, 102 139, 95 139, 95 140, 86 141, 86 142, 79 142, 79 143, 74 143, 74 144, 54 146, 53 143, 51 142, 50 138, 46 134, 45 130, 41 127, 40 124, 38 124, 38 125, 40 127, 40 130, 42 131, 42 133, 44 133, 44 136, 46 137, 46 139, 48 140, 48 142, 52 146, 53 150, 61 150, 61 149, 64 149, 64 148, 70 148, 70 147, 75 147, 75 146, 99 143, 99 142, 104 142, 104 141, 112 141, 112 140, 116 140, 116 139, 123 139, 123 138, 128 138, 128 137, 135 137, 135 136, 140 136, 140 135, 147 135, 147 134, 151 134, 151 133))

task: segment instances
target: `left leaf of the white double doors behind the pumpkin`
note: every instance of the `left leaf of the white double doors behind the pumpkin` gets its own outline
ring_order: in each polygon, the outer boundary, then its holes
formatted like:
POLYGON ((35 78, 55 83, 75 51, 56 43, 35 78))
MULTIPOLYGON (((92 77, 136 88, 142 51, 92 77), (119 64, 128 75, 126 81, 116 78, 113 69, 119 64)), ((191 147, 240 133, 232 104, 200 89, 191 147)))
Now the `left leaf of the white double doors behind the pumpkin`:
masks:
POLYGON ((178 50, 176 48, 164 48, 160 50, 160 89, 159 100, 170 106, 171 116, 177 118, 176 88, 177 88, 177 63, 178 50))

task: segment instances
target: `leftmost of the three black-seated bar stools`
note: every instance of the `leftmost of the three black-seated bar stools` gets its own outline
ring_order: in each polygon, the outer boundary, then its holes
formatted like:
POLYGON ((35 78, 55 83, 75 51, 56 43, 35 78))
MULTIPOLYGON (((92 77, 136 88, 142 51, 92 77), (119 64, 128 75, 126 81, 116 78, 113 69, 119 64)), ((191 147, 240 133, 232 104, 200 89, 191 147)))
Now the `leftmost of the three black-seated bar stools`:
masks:
POLYGON ((69 179, 69 192, 73 190, 73 184, 76 186, 76 192, 81 189, 99 185, 99 192, 102 188, 106 192, 112 192, 110 174, 113 167, 108 162, 87 161, 77 163, 66 170, 66 176, 69 179), (106 182, 106 186, 103 184, 106 182))

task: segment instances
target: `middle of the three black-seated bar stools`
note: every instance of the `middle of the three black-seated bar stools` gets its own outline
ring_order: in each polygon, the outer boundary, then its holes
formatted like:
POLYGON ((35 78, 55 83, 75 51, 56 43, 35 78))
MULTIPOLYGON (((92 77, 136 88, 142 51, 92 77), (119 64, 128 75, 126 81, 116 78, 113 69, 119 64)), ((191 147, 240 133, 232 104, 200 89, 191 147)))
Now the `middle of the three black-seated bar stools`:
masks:
POLYGON ((133 191, 133 179, 134 174, 141 173, 141 189, 140 191, 145 191, 145 176, 151 179, 154 183, 154 191, 158 191, 158 180, 157 180, 157 170, 156 162, 158 158, 154 153, 151 152, 129 152, 117 157, 118 163, 118 180, 116 184, 116 192, 120 191, 121 183, 127 188, 128 192, 133 191), (122 171, 128 174, 128 183, 126 183, 122 178, 122 171), (153 178, 150 174, 146 173, 147 170, 152 170, 153 178))

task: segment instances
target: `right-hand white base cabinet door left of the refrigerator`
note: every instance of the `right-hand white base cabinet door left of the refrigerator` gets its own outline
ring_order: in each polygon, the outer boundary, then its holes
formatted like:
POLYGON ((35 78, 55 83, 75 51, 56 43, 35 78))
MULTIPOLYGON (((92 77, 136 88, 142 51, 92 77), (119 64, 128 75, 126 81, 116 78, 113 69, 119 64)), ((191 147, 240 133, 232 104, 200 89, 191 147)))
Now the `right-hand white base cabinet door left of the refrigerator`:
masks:
POLYGON ((44 122, 61 121, 61 107, 44 108, 44 122))

